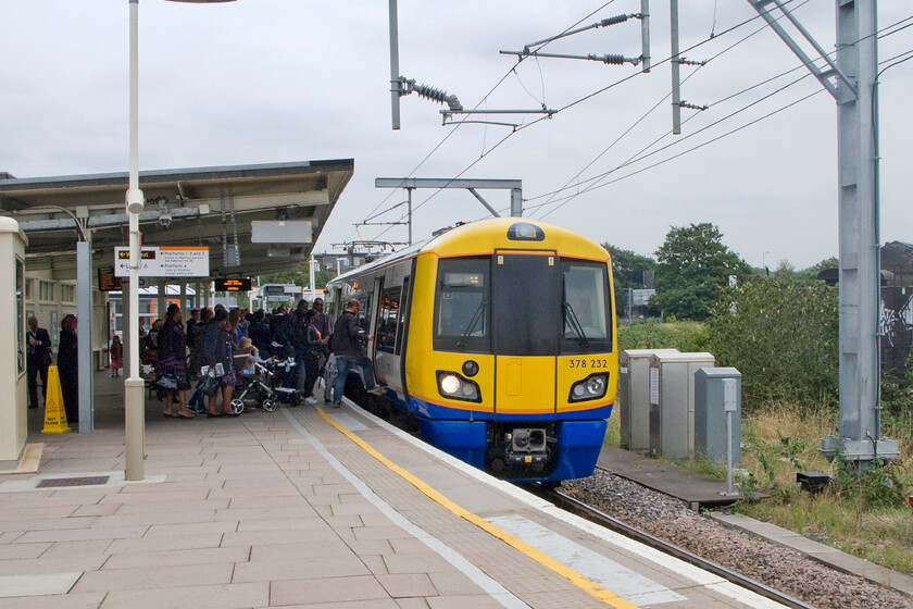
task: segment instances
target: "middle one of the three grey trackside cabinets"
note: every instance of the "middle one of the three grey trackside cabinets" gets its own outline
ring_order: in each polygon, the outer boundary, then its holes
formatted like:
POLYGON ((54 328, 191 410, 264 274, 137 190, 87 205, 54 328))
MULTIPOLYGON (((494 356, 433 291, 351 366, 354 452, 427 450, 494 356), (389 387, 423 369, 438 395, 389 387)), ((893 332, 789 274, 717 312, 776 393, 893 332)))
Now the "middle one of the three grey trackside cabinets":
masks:
POLYGON ((714 364, 711 353, 650 357, 650 455, 695 456, 695 373, 714 364))

